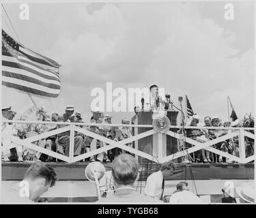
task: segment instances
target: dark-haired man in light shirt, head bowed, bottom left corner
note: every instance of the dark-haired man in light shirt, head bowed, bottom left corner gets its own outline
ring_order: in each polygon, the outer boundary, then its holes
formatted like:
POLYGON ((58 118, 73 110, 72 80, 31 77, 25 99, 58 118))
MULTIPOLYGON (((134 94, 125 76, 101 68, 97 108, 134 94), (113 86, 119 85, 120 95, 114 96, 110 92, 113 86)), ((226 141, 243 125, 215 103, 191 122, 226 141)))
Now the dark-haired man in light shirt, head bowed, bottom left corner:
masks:
POLYGON ((35 162, 27 170, 23 181, 2 190, 1 202, 16 204, 36 202, 49 187, 53 187, 57 181, 57 173, 51 166, 44 162, 35 162))

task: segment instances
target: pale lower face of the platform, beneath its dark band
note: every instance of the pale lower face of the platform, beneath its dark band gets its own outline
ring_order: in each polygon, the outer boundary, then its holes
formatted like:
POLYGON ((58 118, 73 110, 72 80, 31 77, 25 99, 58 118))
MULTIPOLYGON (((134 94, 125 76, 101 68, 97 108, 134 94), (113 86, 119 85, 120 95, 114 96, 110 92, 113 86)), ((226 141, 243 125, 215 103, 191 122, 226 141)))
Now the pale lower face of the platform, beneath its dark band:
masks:
MULTIPOLYGON (((222 191, 227 180, 187 180, 190 191, 198 196, 208 198, 205 203, 221 203, 222 191)), ((251 180, 231 180, 234 187, 242 187, 244 183, 251 180)), ((167 181, 165 183, 165 195, 169 196, 176 189, 177 183, 180 181, 167 181)), ((2 190, 10 189, 17 181, 3 181, 2 190)), ((145 189, 145 181, 139 181, 134 184, 137 192, 143 193, 145 189)), ((3 196, 5 197, 5 196, 3 196)), ((96 186, 89 181, 57 181, 54 187, 46 191, 42 198, 48 198, 49 202, 96 202, 96 186)), ((8 198, 8 196, 6 197, 8 198)))

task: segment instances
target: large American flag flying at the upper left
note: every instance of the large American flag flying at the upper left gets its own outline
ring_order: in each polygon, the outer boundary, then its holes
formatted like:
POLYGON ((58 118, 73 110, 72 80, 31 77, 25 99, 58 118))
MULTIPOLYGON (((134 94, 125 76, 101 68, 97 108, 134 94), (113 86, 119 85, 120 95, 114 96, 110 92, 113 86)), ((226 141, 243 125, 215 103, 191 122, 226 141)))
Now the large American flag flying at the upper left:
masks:
POLYGON ((2 84, 44 97, 58 97, 59 63, 16 42, 2 29, 2 84))

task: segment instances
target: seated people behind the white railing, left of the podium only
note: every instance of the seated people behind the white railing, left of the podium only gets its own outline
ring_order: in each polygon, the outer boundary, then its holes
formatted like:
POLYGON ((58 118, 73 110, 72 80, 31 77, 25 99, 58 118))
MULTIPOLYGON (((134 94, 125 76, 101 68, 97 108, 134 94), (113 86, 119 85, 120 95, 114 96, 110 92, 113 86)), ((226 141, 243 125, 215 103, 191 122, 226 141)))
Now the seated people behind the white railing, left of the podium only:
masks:
MULTIPOLYGON (((112 123, 112 116, 109 114, 104 115, 103 112, 99 110, 91 111, 92 116, 90 118, 90 123, 112 123)), ((16 112, 12 111, 11 108, 2 109, 2 119, 3 121, 8 121, 14 119, 16 112)), ((74 112, 74 106, 68 105, 66 106, 66 111, 64 114, 53 113, 50 116, 46 114, 44 110, 37 112, 38 121, 53 121, 53 122, 64 122, 64 123, 83 123, 83 118, 79 112, 74 112)), ((23 120, 23 116, 21 116, 21 120, 23 120)), ((25 120, 25 119, 24 119, 25 120)), ((122 119, 122 124, 130 124, 128 119, 122 119)), ((42 134, 46 131, 51 131, 54 129, 58 129, 64 127, 65 125, 47 125, 47 124, 23 124, 23 123, 3 123, 2 125, 2 133, 5 140, 3 144, 11 144, 10 138, 18 137, 21 139, 28 138, 30 136, 34 136, 36 134, 42 134), (42 131, 40 131, 40 130, 42 131), (10 137, 12 136, 12 137, 10 137)), ((102 126, 94 126, 94 125, 81 125, 79 127, 85 128, 95 134, 99 134, 105 138, 109 138, 111 140, 120 141, 125 138, 130 138, 132 136, 132 130, 129 127, 109 127, 107 125, 102 126)), ((69 156, 70 154, 70 131, 61 132, 55 136, 50 136, 43 140, 38 140, 37 142, 33 142, 38 146, 42 146, 45 149, 49 149, 51 151, 55 151, 57 153, 61 153, 63 155, 69 156)), ((77 155, 81 155, 82 153, 87 153, 92 149, 96 149, 102 146, 106 146, 105 142, 100 140, 94 140, 94 138, 90 136, 85 136, 85 134, 81 134, 75 131, 74 134, 74 157, 77 155)), ((132 143, 126 144, 127 146, 132 146, 132 143)), ((111 151, 107 151, 104 153, 100 153, 93 157, 89 157, 88 161, 104 161, 109 163, 113 161, 115 156, 120 153, 125 153, 122 149, 112 149, 111 151)), ((23 161, 23 160, 31 160, 35 161, 40 159, 41 161, 56 161, 55 158, 35 152, 32 149, 24 149, 23 146, 16 144, 16 148, 5 151, 2 153, 2 158, 4 161, 23 161)), ((57 160, 61 161, 61 160, 57 160)))

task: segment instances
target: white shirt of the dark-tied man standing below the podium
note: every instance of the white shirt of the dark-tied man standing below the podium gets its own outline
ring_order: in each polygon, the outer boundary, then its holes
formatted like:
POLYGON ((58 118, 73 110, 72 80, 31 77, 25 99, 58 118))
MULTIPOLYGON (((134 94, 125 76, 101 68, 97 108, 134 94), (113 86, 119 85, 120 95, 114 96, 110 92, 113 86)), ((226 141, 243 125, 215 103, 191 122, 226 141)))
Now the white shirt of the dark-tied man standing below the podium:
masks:
POLYGON ((147 177, 145 195, 160 199, 162 194, 162 172, 159 170, 147 177))

